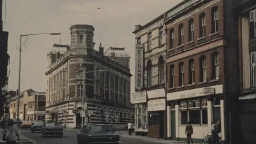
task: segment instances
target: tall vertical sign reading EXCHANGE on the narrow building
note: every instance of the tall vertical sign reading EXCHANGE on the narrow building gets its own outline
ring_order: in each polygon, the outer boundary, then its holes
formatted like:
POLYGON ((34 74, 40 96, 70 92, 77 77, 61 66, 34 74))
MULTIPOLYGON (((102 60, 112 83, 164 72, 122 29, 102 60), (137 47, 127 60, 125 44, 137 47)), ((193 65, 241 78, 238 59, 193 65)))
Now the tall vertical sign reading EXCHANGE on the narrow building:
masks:
POLYGON ((144 45, 136 45, 135 57, 135 89, 140 91, 143 88, 144 45))

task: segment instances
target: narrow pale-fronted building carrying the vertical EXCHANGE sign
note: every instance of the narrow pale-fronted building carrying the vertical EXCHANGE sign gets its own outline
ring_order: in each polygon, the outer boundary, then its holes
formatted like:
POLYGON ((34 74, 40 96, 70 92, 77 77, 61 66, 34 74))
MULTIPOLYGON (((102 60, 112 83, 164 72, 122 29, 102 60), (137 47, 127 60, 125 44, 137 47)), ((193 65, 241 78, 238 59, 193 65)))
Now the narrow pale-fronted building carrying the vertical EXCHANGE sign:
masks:
POLYGON ((135 133, 166 138, 164 14, 135 26, 135 133))

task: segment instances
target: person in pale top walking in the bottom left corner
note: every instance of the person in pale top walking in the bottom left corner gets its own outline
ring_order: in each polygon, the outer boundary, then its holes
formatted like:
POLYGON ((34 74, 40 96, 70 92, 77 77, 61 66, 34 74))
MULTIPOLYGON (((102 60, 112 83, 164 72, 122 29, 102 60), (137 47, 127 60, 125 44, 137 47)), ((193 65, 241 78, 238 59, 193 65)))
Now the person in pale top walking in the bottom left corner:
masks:
POLYGON ((19 128, 13 119, 9 119, 9 123, 3 131, 3 140, 6 141, 6 144, 15 144, 17 140, 20 140, 19 128))

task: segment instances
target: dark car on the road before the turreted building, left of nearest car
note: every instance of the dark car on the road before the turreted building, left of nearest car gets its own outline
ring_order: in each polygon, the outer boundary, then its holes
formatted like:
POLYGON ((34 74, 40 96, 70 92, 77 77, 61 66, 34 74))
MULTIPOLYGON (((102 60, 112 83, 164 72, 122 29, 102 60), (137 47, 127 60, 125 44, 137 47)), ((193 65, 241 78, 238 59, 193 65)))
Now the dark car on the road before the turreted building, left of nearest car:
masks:
POLYGON ((42 126, 42 137, 47 137, 47 135, 55 135, 56 137, 62 137, 63 127, 58 122, 47 122, 42 126))

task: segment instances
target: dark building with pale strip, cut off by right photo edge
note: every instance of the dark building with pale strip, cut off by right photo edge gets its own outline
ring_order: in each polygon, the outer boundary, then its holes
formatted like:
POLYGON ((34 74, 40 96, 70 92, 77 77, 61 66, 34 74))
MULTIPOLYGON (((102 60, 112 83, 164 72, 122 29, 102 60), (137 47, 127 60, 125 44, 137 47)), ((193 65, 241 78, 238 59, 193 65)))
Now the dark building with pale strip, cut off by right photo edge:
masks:
POLYGON ((256 131, 256 1, 241 1, 234 7, 239 58, 239 104, 241 141, 255 143, 256 131))

